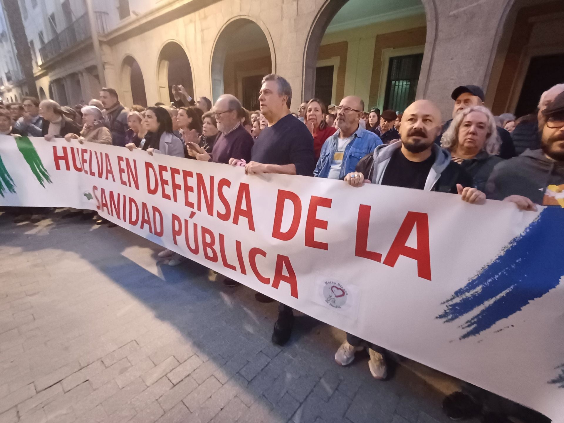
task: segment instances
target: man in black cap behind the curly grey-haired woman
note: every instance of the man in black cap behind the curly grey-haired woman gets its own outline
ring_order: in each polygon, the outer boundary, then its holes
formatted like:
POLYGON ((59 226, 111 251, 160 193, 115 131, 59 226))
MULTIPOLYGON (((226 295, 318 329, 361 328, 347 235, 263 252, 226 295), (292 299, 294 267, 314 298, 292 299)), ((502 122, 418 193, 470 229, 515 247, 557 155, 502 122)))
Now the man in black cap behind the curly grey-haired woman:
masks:
MULTIPOLYGON (((484 91, 477 85, 461 85, 456 87, 452 91, 451 98, 455 100, 454 107, 452 109, 452 117, 454 118, 456 114, 460 113, 464 109, 472 106, 484 105, 484 91)), ((444 134, 444 131, 448 129, 451 125, 452 119, 447 121, 443 125, 443 130, 435 139, 435 143, 440 145, 440 137, 444 134)), ((497 135, 501 140, 499 157, 501 158, 511 158, 515 156, 515 147, 513 146, 513 140, 511 135, 505 129, 497 127, 497 135)))

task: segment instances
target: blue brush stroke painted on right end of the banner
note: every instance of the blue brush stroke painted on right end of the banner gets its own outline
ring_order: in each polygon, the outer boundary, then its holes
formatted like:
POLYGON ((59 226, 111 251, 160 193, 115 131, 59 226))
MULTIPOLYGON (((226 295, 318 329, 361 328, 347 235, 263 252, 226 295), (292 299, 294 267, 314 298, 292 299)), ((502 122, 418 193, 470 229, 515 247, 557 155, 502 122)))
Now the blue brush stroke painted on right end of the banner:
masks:
POLYGON ((508 318, 557 287, 564 275, 564 209, 549 206, 464 288, 443 304, 450 322, 483 307, 461 328, 468 338, 508 318))

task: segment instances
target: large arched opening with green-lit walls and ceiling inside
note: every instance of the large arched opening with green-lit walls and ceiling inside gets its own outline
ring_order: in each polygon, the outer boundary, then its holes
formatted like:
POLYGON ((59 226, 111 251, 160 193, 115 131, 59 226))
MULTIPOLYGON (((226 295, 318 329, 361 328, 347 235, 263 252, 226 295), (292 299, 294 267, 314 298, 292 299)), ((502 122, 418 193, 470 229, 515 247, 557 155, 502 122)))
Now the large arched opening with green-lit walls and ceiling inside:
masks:
POLYGON ((327 2, 306 42, 302 100, 358 95, 365 111, 403 112, 416 98, 426 29, 422 0, 327 2))

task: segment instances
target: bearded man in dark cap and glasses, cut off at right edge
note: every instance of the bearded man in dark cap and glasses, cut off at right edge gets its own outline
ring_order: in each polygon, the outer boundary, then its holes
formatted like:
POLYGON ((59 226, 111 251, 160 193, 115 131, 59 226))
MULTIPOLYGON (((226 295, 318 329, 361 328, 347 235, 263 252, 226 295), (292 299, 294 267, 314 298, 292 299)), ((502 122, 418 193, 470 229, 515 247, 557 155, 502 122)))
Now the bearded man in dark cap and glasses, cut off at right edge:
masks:
POLYGON ((539 132, 539 149, 493 168, 488 198, 513 201, 521 210, 535 210, 535 204, 564 208, 564 92, 540 113, 539 132))

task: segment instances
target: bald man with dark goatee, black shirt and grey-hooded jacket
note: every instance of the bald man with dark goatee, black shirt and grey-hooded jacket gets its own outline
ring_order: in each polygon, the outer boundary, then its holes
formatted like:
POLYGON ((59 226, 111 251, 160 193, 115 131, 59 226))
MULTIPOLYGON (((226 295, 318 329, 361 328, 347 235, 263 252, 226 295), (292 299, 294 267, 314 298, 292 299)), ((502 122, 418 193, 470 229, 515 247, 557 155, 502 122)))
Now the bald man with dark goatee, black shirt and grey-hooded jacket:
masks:
MULTIPOLYGON (((428 100, 417 100, 403 113, 399 127, 401 139, 376 147, 374 153, 362 158, 356 171, 345 181, 360 187, 364 179, 381 185, 416 188, 425 191, 458 193, 461 199, 482 204, 486 195, 473 188, 472 177, 451 160, 450 152, 434 143, 440 132, 440 111, 428 100)), ((335 354, 340 365, 352 363, 355 352, 368 347, 368 367, 372 376, 387 377, 386 350, 347 333, 347 339, 335 354)))

